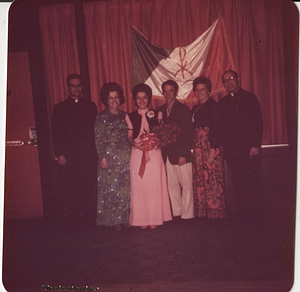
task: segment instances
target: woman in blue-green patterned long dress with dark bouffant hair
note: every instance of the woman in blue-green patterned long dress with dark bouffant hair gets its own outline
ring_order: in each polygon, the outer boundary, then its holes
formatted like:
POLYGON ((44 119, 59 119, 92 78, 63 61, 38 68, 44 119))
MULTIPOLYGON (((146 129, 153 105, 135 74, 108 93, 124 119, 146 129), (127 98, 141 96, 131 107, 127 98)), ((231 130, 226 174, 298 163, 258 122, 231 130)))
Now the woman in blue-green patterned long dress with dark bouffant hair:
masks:
POLYGON ((127 140, 126 113, 119 109, 125 102, 123 89, 117 83, 107 83, 100 91, 106 109, 95 123, 98 151, 97 225, 129 225, 130 216, 130 145, 127 140))

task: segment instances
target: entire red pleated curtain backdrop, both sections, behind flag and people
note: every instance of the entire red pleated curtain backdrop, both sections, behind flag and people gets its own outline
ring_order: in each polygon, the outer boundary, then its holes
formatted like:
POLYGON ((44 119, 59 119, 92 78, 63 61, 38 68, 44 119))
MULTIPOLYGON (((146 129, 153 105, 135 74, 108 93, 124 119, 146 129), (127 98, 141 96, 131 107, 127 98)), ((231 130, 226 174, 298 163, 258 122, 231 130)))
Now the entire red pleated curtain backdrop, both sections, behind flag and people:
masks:
MULTIPOLYGON (((92 100, 99 111, 103 110, 99 101, 100 88, 106 82, 115 81, 125 92, 126 103, 122 109, 127 112, 134 110, 130 97, 130 25, 134 25, 150 42, 164 48, 175 48, 190 44, 218 17, 223 16, 241 86, 255 93, 261 103, 263 144, 287 143, 282 5, 294 4, 287 0, 84 2, 92 100)), ((47 80, 52 91, 64 88, 65 76, 76 70, 78 65, 72 9, 64 5, 63 11, 61 6, 41 10, 41 24, 47 24, 41 25, 45 52, 51 51, 49 47, 55 48, 49 39, 45 40, 46 33, 51 34, 55 42, 60 42, 60 51, 53 52, 46 59, 47 80), (56 33, 58 28, 67 28, 68 35, 62 38, 61 32, 56 33), (71 47, 73 51, 70 51, 71 47), (74 60, 64 59, 63 56, 74 60), (69 64, 69 61, 73 63, 69 64)), ((62 99, 62 93, 58 95, 58 91, 57 95, 50 94, 50 99, 55 102, 62 99)), ((156 107, 161 103, 154 100, 152 105, 156 107)))

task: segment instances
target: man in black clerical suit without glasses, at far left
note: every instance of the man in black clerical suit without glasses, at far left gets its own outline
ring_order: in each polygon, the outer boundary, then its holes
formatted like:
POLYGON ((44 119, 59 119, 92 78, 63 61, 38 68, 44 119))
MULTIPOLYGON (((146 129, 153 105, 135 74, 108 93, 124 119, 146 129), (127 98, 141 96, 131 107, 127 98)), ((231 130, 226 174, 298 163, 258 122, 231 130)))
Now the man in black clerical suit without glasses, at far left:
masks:
POLYGON ((66 205, 70 222, 96 224, 97 151, 94 124, 97 107, 82 98, 82 78, 67 77, 70 93, 56 104, 52 117, 52 137, 58 164, 65 170, 66 205))

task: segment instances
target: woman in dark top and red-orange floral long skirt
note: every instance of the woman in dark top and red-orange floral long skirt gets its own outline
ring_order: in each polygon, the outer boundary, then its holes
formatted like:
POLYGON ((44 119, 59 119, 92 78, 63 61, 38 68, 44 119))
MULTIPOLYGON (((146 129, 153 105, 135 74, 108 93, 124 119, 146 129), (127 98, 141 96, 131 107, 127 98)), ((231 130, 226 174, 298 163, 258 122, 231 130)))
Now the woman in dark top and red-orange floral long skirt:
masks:
POLYGON ((218 103, 210 98, 211 82, 208 78, 197 77, 193 82, 193 90, 199 100, 192 108, 195 216, 226 218, 218 103))

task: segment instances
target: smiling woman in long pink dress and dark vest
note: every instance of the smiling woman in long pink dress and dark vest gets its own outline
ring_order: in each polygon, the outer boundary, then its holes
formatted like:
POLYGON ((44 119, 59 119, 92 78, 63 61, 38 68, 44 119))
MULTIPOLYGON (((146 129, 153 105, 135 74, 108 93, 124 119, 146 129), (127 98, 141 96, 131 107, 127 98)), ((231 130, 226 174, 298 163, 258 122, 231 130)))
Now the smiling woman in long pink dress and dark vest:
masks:
POLYGON ((149 110, 152 90, 146 84, 138 84, 132 90, 137 110, 126 116, 128 141, 131 144, 130 224, 142 229, 154 229, 164 221, 172 220, 165 166, 160 148, 147 151, 149 161, 141 175, 140 166, 145 146, 141 146, 141 135, 148 133, 162 119, 162 113, 149 110))

